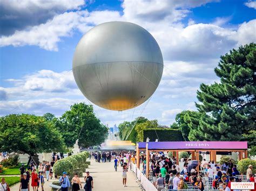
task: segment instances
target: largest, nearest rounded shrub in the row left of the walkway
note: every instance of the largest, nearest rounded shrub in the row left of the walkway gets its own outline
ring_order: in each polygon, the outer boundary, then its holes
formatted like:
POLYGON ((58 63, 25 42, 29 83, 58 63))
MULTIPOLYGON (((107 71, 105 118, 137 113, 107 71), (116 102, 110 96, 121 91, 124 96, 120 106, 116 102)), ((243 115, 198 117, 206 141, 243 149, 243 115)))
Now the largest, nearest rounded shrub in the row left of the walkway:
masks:
POLYGON ((53 166, 53 173, 57 176, 61 176, 63 172, 67 172, 68 174, 73 173, 74 165, 72 164, 71 160, 61 159, 55 162, 53 166))

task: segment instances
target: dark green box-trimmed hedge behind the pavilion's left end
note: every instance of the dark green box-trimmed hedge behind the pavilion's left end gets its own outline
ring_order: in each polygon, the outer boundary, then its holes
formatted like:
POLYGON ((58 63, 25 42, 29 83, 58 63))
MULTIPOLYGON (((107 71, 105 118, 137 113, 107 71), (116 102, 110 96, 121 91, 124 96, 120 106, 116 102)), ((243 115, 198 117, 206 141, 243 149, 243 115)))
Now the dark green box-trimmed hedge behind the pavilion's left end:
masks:
POLYGON ((144 129, 143 130, 143 142, 146 142, 147 137, 149 137, 151 142, 158 139, 161 142, 182 142, 184 138, 181 131, 178 129, 144 129), (156 133, 157 132, 157 133, 156 133))

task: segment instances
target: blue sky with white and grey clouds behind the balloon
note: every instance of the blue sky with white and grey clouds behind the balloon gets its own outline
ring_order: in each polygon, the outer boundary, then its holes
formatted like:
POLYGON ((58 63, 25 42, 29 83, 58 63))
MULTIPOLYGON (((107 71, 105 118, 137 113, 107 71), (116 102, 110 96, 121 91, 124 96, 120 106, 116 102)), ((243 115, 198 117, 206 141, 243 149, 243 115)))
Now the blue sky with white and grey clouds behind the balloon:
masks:
POLYGON ((93 105, 105 125, 138 116, 170 125, 196 110, 201 83, 219 82, 220 55, 256 43, 256 1, 124 0, 0 1, 0 116, 61 116, 74 103, 91 104, 78 89, 72 59, 80 38, 110 21, 138 24, 157 40, 164 58, 161 82, 135 109, 93 105))

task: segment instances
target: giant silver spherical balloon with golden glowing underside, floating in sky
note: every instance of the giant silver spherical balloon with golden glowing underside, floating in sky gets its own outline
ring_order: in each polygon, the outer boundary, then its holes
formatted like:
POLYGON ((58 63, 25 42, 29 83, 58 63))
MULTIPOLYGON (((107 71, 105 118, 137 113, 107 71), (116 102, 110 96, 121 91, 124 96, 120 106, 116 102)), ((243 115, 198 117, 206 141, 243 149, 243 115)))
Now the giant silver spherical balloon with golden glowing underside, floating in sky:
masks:
POLYGON ((79 41, 73 57, 79 89, 92 103, 110 110, 144 103, 162 74, 157 41, 143 27, 128 22, 93 27, 79 41))

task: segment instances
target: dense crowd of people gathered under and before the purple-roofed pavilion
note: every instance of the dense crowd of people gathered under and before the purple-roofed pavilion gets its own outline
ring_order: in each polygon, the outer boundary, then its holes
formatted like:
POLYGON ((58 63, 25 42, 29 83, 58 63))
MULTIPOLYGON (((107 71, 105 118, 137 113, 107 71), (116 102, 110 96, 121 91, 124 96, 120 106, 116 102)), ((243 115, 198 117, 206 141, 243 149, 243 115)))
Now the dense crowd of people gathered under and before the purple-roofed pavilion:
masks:
MULTIPOLYGON (((150 171, 152 173, 152 182, 158 190, 163 188, 180 190, 187 189, 188 186, 204 190, 207 185, 211 189, 224 189, 230 191, 231 182, 241 181, 239 179, 239 171, 237 165, 233 164, 232 160, 224 162, 223 165, 218 166, 215 162, 206 161, 205 159, 199 164, 199 171, 197 165, 191 164, 191 159, 181 158, 183 168, 177 165, 177 160, 165 157, 163 152, 151 153, 150 157, 150 171), (204 181, 203 181, 204 180, 204 181)), ((146 169, 146 157, 144 153, 140 153, 140 162, 143 164, 143 173, 146 169)), ((247 181, 254 182, 252 174, 253 166, 248 166, 246 178, 247 181)))

